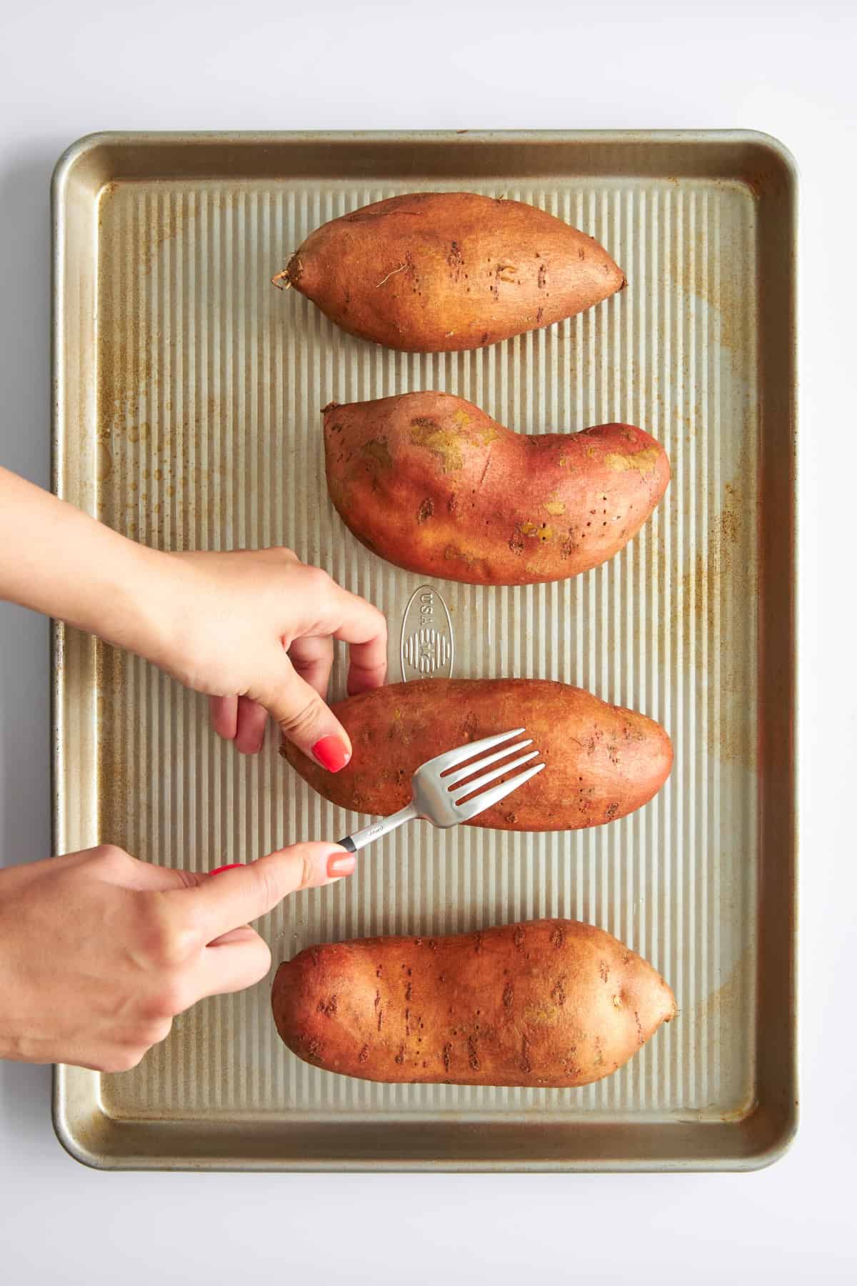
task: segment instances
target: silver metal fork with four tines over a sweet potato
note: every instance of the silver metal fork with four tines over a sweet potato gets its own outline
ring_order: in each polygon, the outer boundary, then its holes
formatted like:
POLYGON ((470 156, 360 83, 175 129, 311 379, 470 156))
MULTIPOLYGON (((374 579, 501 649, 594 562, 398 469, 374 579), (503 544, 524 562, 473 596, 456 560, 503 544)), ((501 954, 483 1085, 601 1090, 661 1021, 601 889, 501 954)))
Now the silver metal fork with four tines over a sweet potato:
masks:
POLYGON ((483 768, 488 768, 490 764, 496 764, 501 759, 514 755, 515 751, 523 750, 526 746, 532 746, 533 739, 528 737, 527 741, 519 741, 514 746, 502 746, 502 750, 495 750, 493 755, 483 754, 483 751, 493 750, 495 746, 501 746, 502 742, 508 742, 526 730, 526 728, 513 728, 511 732, 501 732, 496 737, 483 737, 482 741, 457 746, 455 750, 447 750, 442 755, 429 759, 411 777, 411 802, 407 808, 400 809, 398 813, 393 813, 391 817, 382 818, 380 822, 373 822, 371 826, 364 827, 362 831, 347 835, 344 840, 339 840, 339 844, 343 849, 348 849, 349 853, 357 853, 358 849, 365 849, 373 840, 380 840, 382 835, 394 831, 405 822, 421 819, 432 822, 433 826, 448 827, 457 826, 459 822, 469 822, 472 818, 478 817, 484 809, 491 808, 492 804, 499 804, 511 791, 517 791, 519 786, 528 782, 536 773, 541 773, 545 766, 543 764, 535 764, 523 773, 518 773, 511 781, 500 782, 499 786, 492 786, 487 791, 483 790, 490 782, 496 781, 497 777, 502 777, 504 773, 509 773, 513 768, 520 768, 522 764, 528 763, 531 759, 537 759, 538 751, 531 750, 528 755, 519 755, 511 763, 501 764, 500 768, 495 768, 488 773, 482 773, 482 775, 473 781, 468 781, 474 773, 481 773, 483 768), (481 757, 472 764, 466 764, 465 768, 460 768, 457 773, 450 773, 450 769, 455 768, 456 764, 463 764, 465 760, 473 759, 474 755, 479 755, 481 757), (474 791, 478 793, 470 799, 474 791))

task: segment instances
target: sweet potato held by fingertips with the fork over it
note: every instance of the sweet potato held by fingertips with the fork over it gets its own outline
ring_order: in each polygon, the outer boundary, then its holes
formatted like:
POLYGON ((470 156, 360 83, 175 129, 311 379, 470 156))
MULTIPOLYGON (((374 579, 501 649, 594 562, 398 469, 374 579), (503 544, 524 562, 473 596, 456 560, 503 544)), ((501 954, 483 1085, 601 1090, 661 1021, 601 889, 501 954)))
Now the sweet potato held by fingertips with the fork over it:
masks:
POLYGON ((547 679, 418 679, 333 706, 353 746, 328 773, 284 742, 281 754, 325 799, 385 817, 411 797, 427 759, 509 728, 526 728, 545 770, 470 826, 572 831, 624 817, 655 795, 672 766, 664 729, 582 688, 547 679))

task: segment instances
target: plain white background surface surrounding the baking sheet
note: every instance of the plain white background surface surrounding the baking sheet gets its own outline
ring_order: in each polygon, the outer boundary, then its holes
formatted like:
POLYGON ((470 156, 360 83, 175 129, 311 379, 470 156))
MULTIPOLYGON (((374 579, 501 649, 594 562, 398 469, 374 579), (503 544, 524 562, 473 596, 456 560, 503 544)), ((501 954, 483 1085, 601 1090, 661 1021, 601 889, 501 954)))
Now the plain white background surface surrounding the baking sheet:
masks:
MULTIPOLYGON (((857 10, 44 0, 3 14, 0 463, 49 477, 53 163, 102 129, 752 127, 800 170, 802 1127, 749 1175, 100 1174, 0 1064, 9 1286, 853 1281, 857 10)), ((46 855, 48 628, 0 606, 0 862, 46 855)), ((0 986, 3 979, 0 979, 0 986)))

